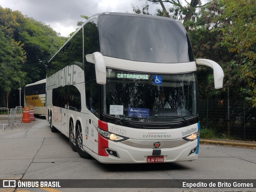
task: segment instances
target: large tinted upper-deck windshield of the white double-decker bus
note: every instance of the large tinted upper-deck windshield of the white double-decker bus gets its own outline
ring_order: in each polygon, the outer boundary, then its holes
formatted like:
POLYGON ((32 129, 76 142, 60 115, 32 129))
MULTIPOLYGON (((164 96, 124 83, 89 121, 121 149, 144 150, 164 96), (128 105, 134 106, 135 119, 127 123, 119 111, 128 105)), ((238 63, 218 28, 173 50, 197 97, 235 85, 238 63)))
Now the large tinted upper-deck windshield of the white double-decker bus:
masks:
POLYGON ((185 28, 175 20, 101 15, 102 55, 154 63, 194 61, 185 28))

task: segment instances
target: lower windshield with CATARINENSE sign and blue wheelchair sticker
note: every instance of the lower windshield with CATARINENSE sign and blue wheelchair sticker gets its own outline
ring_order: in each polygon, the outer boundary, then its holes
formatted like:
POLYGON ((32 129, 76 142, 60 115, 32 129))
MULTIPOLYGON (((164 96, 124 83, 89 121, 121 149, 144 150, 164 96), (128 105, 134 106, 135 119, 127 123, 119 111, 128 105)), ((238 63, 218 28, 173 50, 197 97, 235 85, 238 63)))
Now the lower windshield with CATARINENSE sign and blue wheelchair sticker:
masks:
POLYGON ((196 73, 156 75, 106 71, 105 115, 149 122, 184 121, 197 115, 196 73))

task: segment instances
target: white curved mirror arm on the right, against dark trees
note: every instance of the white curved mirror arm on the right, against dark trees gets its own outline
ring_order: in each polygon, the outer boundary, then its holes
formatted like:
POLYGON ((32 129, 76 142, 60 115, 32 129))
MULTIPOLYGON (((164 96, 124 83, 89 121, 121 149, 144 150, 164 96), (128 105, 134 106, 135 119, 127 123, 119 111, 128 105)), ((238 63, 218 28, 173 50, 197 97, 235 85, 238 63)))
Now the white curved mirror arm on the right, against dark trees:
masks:
POLYGON ((213 69, 213 74, 214 74, 215 89, 222 88, 224 72, 218 63, 209 59, 196 59, 196 64, 211 67, 213 69))

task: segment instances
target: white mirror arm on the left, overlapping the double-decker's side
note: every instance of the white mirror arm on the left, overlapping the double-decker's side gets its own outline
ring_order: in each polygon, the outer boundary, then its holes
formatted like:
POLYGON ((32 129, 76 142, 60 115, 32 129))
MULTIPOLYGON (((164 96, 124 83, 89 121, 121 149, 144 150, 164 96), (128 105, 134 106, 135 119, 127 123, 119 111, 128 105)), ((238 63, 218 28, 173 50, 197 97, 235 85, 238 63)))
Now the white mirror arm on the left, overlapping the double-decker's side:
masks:
POLYGON ((95 64, 96 82, 100 85, 106 84, 106 63, 100 52, 94 52, 85 56, 86 61, 95 64))

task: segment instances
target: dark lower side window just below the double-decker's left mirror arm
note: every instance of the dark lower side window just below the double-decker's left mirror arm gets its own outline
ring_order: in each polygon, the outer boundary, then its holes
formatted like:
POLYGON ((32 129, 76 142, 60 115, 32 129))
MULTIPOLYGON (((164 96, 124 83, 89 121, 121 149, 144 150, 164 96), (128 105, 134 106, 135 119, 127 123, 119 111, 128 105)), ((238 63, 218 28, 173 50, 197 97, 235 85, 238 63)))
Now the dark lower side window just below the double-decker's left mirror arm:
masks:
POLYGON ((99 117, 99 85, 95 80, 86 82, 86 107, 99 117))

